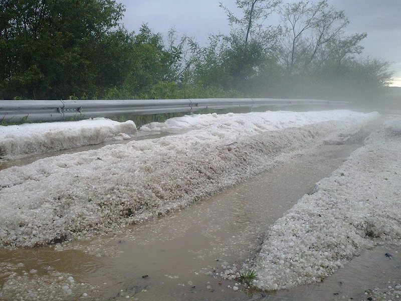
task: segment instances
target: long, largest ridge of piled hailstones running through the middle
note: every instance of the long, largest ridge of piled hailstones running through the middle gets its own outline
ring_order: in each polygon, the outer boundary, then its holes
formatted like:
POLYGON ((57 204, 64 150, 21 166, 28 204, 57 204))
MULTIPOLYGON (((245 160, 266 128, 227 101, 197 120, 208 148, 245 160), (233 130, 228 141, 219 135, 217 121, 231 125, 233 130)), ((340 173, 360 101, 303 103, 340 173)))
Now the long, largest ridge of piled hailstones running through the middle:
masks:
POLYGON ((265 171, 282 153, 352 133, 377 117, 351 111, 258 114, 263 118, 231 114, 224 124, 184 134, 0 171, 0 246, 88 237, 167 214, 265 171))

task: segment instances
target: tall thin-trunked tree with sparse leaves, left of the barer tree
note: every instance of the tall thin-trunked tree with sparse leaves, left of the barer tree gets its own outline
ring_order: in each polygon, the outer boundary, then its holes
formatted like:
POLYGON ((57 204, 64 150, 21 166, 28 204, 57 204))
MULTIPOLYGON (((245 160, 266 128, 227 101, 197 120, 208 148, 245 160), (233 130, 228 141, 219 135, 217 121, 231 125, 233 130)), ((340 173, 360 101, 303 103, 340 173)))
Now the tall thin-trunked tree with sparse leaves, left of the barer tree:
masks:
POLYGON ((269 55, 278 37, 278 29, 263 22, 280 3, 276 0, 237 0, 241 16, 227 7, 231 32, 210 36, 209 45, 194 53, 194 78, 202 86, 246 91, 252 78, 269 55))

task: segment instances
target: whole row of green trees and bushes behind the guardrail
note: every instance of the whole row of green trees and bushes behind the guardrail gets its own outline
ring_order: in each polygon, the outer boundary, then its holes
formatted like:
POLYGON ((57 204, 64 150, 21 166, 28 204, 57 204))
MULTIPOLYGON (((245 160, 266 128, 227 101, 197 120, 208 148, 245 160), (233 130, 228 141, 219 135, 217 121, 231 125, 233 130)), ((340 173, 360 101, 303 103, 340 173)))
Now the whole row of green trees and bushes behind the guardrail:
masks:
MULTIPOLYGON (((234 1, 234 0, 233 0, 234 1)), ((231 32, 168 38, 113 0, 0 0, 0 99, 323 98, 373 101, 391 73, 327 0, 236 0, 231 32), (272 14, 279 25, 269 24, 272 14)), ((219 29, 216 29, 218 32, 219 29)))

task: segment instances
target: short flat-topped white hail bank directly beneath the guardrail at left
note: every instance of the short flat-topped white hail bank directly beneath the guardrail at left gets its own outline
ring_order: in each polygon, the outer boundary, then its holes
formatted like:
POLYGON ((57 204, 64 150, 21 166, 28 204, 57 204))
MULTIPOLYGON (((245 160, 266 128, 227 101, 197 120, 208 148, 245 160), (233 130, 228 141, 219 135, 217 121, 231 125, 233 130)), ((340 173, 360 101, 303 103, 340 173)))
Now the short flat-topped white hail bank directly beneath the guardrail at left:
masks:
POLYGON ((131 120, 117 122, 106 118, 0 125, 0 159, 130 139, 135 132, 136 126, 131 120))

